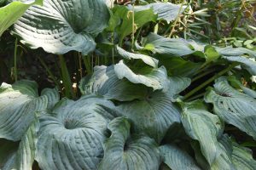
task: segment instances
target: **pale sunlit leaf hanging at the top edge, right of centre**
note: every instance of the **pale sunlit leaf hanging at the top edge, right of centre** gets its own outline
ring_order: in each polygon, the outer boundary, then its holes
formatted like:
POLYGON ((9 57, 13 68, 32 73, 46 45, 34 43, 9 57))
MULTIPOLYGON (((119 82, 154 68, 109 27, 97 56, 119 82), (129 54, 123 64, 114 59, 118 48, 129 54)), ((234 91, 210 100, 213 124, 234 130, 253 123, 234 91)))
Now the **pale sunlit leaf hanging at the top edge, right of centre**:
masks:
MULTIPOLYGON (((180 7, 181 5, 173 3, 149 3, 144 6, 136 6, 135 10, 153 8, 154 13, 158 16, 157 20, 166 20, 169 23, 177 18, 180 7)), ((180 14, 183 13, 183 10, 184 8, 181 9, 180 14)))

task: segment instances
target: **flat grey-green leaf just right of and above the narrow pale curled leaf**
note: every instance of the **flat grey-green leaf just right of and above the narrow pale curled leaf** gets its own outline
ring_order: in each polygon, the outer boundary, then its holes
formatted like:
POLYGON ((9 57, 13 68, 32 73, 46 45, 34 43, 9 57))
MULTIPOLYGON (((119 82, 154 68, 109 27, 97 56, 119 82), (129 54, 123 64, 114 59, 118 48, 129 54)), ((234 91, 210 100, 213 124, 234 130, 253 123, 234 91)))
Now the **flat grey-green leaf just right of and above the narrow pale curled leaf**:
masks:
POLYGON ((147 39, 148 41, 146 44, 152 45, 154 47, 152 51, 157 54, 183 56, 193 54, 195 52, 189 42, 186 42, 181 38, 166 38, 151 33, 147 39))

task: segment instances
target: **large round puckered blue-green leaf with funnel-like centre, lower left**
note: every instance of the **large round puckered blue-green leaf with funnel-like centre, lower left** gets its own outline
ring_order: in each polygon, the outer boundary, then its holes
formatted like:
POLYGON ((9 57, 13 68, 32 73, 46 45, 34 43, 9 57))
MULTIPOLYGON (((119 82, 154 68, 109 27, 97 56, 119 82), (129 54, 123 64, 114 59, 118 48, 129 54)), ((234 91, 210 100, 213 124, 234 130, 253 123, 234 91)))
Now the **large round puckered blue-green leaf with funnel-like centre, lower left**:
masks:
POLYGON ((114 105, 88 96, 64 99, 51 115, 41 116, 37 161, 42 169, 96 169, 103 156, 102 143, 113 119, 114 105))

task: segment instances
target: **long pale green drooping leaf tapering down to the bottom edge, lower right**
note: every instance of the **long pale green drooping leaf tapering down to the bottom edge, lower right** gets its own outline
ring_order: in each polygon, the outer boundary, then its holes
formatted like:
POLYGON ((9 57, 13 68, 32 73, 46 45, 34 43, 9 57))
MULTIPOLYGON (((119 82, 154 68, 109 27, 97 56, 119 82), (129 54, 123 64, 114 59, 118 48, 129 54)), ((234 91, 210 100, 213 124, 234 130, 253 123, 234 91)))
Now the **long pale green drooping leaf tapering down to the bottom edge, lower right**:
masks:
POLYGON ((218 143, 223 131, 223 123, 218 116, 208 112, 201 101, 194 101, 183 106, 181 120, 186 133, 199 141, 202 154, 212 169, 232 169, 230 156, 218 143))

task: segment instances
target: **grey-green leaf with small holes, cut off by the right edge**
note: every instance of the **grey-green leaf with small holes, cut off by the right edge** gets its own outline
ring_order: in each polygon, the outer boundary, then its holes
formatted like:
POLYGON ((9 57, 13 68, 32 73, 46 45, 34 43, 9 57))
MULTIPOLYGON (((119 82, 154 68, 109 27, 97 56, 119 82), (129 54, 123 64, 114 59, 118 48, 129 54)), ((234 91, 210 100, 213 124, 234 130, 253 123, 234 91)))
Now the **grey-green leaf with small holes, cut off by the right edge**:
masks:
POLYGON ((228 122, 256 139, 256 100, 232 88, 225 77, 209 88, 205 100, 212 103, 213 111, 228 122))

